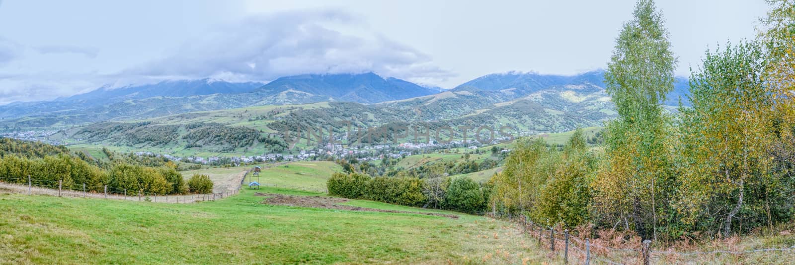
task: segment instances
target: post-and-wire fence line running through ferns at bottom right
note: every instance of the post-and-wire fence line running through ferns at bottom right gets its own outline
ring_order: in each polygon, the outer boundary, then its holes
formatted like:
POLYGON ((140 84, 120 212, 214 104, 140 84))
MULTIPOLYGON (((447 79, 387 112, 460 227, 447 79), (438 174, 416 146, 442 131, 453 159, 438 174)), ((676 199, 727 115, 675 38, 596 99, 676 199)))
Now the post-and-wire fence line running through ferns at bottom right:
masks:
MULTIPOLYGON (((760 248, 760 249, 752 249, 747 251, 727 251, 727 250, 715 250, 709 252, 675 252, 675 251, 663 251, 663 250, 653 250, 649 247, 651 241, 645 240, 641 244, 641 248, 611 248, 608 246, 602 246, 599 244, 592 244, 589 239, 580 239, 576 236, 572 236, 568 233, 568 229, 563 231, 564 236, 555 236, 556 233, 560 233, 560 231, 556 231, 553 228, 542 228, 541 226, 533 224, 532 221, 527 222, 526 217, 522 218, 520 224, 522 225, 522 233, 529 235, 531 237, 535 237, 538 240, 538 247, 541 248, 543 244, 549 244, 549 251, 552 252, 553 255, 557 255, 558 251, 556 251, 555 245, 562 242, 564 245, 564 250, 573 249, 576 252, 579 252, 581 255, 584 255, 584 264, 589 264, 591 260, 599 261, 602 263, 608 264, 625 264, 626 261, 633 261, 640 259, 643 264, 650 264, 652 263, 653 259, 665 259, 669 257, 676 257, 677 255, 682 256, 693 256, 693 255, 715 255, 715 254, 729 254, 729 255, 745 255, 749 253, 757 253, 757 252, 789 252, 795 250, 795 245, 789 248, 760 248), (529 229, 529 231, 528 231, 529 229), (563 237, 563 239, 561 239, 563 237), (570 241, 571 240, 571 241, 570 241), (579 244, 579 246, 578 246, 579 244), (583 249, 583 247, 585 249, 583 249), (598 252, 593 252, 591 248, 601 248, 607 255, 597 255, 598 252), (621 257, 620 261, 612 260, 611 252, 622 252, 619 254, 621 257), (630 252, 630 255, 626 252, 630 252), (634 255, 631 255, 634 253, 634 255), (628 259, 629 258, 629 259, 628 259)), ((510 220, 510 221, 516 221, 510 220)), ((564 251, 564 263, 568 263, 568 251, 564 251)), ((615 256, 615 255, 613 255, 615 256)))

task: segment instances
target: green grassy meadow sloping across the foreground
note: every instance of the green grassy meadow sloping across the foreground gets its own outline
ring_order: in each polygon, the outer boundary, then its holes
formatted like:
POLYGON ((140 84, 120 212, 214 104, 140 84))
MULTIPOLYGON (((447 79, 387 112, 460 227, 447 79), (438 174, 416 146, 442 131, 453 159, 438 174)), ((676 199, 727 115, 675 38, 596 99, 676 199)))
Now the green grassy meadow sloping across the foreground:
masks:
MULTIPOLYGON (((260 192, 319 195, 263 188, 260 192)), ((546 260, 502 221, 265 205, 253 190, 158 204, 0 190, 0 263, 522 263, 546 260)), ((429 211, 378 202, 349 205, 429 211)), ((441 211, 440 211, 441 212, 441 211)), ((450 212, 444 212, 450 213, 450 212)))

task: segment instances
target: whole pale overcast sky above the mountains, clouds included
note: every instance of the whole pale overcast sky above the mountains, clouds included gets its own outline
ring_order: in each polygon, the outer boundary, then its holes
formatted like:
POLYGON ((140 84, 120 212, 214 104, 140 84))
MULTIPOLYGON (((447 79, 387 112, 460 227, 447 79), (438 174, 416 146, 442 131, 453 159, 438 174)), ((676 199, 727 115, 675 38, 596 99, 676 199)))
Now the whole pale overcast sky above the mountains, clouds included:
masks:
MULTIPOLYGON (((677 75, 753 38, 762 0, 658 0, 677 75)), ((162 79, 374 71, 451 88, 481 75, 606 67, 634 0, 0 0, 0 104, 162 79)))

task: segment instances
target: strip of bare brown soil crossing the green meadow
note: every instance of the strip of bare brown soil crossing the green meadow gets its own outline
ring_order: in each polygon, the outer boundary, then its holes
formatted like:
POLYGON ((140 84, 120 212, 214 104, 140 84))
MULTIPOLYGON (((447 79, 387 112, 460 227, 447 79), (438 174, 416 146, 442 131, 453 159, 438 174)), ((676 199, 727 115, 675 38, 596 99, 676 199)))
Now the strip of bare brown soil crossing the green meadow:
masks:
POLYGON ((346 198, 334 198, 328 196, 263 194, 263 193, 256 193, 254 195, 268 197, 262 203, 270 205, 288 205, 288 206, 325 208, 325 209, 343 209, 349 211, 378 212, 378 213, 411 213, 411 214, 423 214, 435 217, 448 217, 452 219, 458 219, 458 216, 455 214, 421 213, 421 212, 409 212, 409 211, 396 211, 392 209, 373 209, 373 208, 363 208, 359 206, 341 205, 340 203, 348 202, 348 199, 346 198))

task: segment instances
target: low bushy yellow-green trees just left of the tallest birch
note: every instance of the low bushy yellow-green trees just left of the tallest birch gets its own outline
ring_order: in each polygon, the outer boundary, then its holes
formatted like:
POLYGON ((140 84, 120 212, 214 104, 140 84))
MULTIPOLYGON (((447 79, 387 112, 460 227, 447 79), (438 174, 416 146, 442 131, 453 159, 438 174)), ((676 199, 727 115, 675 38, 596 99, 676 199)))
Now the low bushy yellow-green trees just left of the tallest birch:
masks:
POLYGON ((488 194, 501 211, 530 213, 533 221, 543 225, 582 225, 589 221, 590 185, 596 169, 586 141, 583 130, 577 129, 563 150, 549 148, 544 140, 519 143, 505 171, 484 190, 494 190, 488 194))

